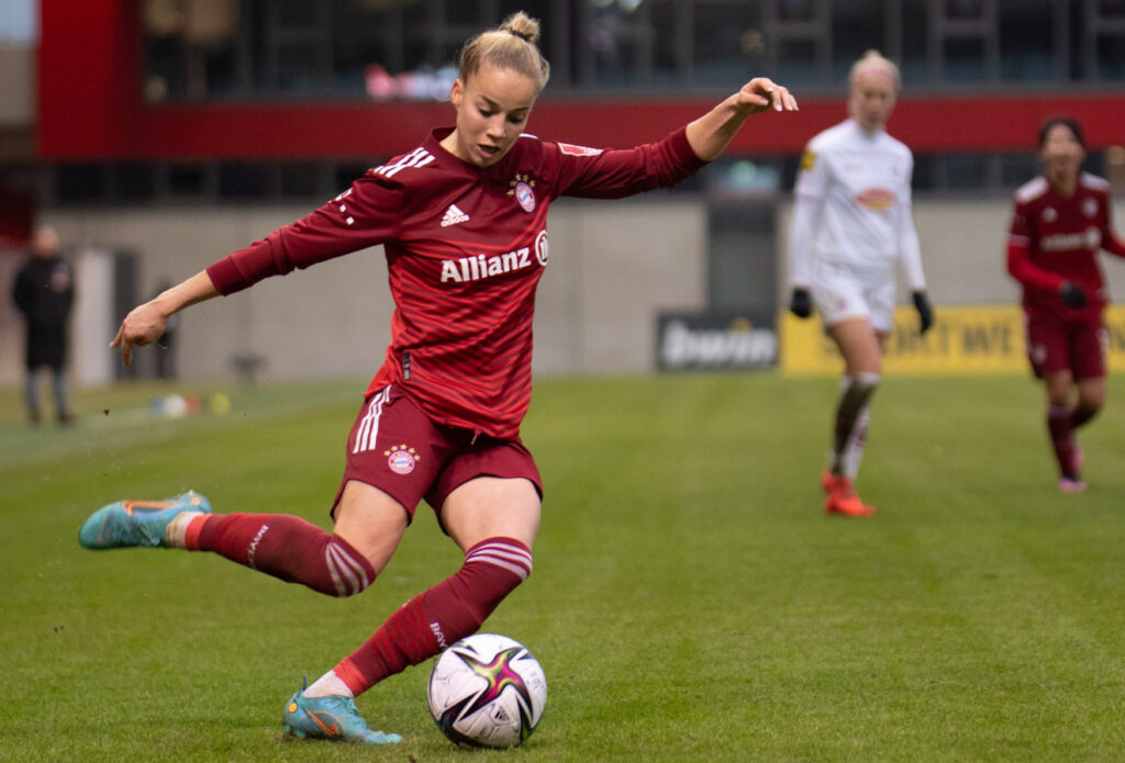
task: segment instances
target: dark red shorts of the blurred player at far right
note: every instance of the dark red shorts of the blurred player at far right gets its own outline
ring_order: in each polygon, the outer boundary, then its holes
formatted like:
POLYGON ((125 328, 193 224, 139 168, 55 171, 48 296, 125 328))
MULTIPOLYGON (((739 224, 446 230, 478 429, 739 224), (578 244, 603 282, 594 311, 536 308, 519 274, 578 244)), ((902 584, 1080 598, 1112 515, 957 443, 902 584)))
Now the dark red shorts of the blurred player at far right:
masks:
POLYGON ((1076 380, 1106 375, 1108 336, 1100 320, 1066 323, 1054 316, 1024 314, 1027 357, 1036 376, 1070 370, 1076 380))

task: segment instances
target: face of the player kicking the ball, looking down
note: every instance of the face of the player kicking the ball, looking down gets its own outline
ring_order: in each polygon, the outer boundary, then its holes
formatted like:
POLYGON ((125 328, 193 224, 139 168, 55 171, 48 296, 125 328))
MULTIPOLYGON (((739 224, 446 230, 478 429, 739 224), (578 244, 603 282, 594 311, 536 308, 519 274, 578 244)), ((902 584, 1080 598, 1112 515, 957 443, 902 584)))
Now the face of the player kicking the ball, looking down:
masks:
POLYGON ((450 100, 457 109, 457 129, 442 146, 469 164, 495 164, 520 137, 537 96, 530 76, 483 64, 466 82, 453 82, 450 100))

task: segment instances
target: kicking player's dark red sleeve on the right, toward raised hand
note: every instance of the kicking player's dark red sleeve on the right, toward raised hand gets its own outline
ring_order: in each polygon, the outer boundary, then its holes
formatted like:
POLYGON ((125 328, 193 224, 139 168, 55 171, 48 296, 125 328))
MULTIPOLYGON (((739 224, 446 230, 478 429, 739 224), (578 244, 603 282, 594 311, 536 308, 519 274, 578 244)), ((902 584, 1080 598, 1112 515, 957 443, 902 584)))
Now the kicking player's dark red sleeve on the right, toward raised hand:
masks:
POLYGON ((706 162, 692 151, 684 128, 657 143, 636 148, 586 148, 554 144, 558 160, 558 196, 620 199, 675 185, 706 162))

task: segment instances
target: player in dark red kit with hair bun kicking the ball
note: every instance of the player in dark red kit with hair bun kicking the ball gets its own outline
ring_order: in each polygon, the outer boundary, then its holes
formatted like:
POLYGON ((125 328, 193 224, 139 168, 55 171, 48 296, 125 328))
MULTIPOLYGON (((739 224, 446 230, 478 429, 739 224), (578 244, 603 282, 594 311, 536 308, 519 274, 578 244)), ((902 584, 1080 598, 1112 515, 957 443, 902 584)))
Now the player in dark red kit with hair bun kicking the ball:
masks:
POLYGON ((549 75, 538 36, 539 22, 516 13, 469 40, 450 94, 454 127, 137 307, 112 342, 128 363, 134 346, 156 340, 169 316, 190 305, 385 247, 392 340, 348 439, 332 532, 287 515, 212 514, 189 492, 110 503, 79 535, 92 548, 210 551, 344 597, 384 570, 425 499, 464 552, 462 566, 292 696, 284 723, 298 736, 398 742, 371 730, 353 698, 475 633, 531 573, 542 489, 520 423, 551 202, 673 185, 716 158, 750 115, 796 109, 785 88, 759 78, 652 144, 618 151, 541 140, 523 134, 549 75))

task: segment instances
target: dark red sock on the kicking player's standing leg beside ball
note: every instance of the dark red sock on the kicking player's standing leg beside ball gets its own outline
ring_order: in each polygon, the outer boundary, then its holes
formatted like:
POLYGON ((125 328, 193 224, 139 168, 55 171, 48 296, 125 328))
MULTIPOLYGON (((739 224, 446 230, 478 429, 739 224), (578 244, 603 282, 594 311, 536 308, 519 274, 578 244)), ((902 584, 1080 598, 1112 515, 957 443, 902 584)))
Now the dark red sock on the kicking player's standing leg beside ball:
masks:
POLYGON ((372 685, 477 632, 496 606, 531 574, 531 551, 513 538, 472 546, 452 578, 403 605, 335 666, 359 696, 372 685))

